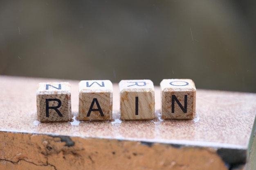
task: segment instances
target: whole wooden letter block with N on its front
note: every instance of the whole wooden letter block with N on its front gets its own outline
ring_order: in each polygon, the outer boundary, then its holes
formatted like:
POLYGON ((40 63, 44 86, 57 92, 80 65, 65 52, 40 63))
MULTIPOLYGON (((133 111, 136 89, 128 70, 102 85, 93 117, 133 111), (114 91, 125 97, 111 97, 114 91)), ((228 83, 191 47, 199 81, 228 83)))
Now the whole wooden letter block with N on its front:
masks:
POLYGON ((195 118, 195 83, 190 79, 164 79, 160 83, 162 119, 195 118))

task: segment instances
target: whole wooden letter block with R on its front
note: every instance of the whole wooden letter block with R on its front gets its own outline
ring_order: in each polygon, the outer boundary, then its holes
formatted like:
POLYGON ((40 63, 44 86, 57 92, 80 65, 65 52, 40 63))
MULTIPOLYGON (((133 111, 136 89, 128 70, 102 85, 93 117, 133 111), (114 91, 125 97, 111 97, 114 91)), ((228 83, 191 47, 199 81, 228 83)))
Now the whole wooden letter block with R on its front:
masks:
POLYGON ((71 114, 70 83, 39 83, 36 90, 37 120, 68 122, 71 114))

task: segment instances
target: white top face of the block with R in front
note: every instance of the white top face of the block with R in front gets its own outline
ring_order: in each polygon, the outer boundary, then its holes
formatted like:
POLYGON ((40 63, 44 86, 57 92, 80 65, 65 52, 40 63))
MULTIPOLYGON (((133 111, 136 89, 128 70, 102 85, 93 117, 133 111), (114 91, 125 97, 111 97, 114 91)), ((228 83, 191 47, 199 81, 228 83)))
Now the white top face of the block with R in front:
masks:
POLYGON ((36 94, 68 94, 71 91, 71 85, 68 82, 49 82, 39 83, 36 94))

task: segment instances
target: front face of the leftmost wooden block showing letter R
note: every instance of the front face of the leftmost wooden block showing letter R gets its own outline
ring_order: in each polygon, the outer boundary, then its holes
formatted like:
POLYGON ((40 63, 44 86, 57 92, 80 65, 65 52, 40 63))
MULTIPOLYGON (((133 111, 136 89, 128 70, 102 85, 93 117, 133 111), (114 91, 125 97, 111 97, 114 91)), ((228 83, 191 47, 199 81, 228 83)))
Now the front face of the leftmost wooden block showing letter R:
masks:
POLYGON ((68 122, 72 120, 71 94, 38 94, 37 120, 40 122, 68 122))

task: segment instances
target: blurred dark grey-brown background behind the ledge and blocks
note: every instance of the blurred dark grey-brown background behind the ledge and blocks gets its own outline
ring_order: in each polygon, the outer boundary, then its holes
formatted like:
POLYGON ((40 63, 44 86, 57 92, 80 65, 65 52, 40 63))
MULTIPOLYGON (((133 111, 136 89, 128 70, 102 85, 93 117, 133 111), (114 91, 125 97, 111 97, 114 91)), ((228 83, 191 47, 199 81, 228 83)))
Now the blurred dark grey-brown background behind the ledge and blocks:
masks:
POLYGON ((0 1, 0 74, 256 92, 256 1, 0 1))

